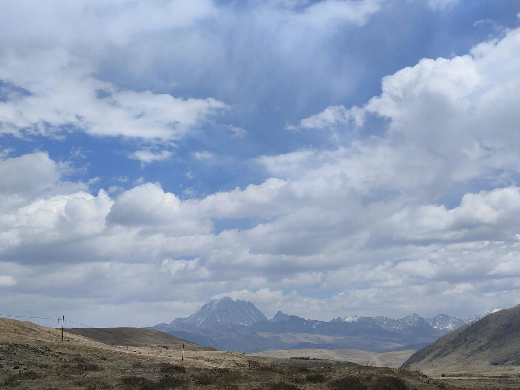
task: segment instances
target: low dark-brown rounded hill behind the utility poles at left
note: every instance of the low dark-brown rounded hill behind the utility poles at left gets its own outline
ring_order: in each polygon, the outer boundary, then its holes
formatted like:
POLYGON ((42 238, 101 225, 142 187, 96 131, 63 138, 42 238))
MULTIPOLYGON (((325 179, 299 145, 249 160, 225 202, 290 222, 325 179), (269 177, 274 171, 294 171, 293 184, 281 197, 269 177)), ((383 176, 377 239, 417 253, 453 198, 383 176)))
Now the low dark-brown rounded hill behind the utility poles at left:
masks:
POLYGON ((89 339, 109 345, 122 346, 165 346, 172 349, 181 349, 184 343, 185 350, 215 350, 205 345, 199 345, 187 340, 179 339, 158 330, 142 328, 73 328, 66 332, 79 334, 89 339))

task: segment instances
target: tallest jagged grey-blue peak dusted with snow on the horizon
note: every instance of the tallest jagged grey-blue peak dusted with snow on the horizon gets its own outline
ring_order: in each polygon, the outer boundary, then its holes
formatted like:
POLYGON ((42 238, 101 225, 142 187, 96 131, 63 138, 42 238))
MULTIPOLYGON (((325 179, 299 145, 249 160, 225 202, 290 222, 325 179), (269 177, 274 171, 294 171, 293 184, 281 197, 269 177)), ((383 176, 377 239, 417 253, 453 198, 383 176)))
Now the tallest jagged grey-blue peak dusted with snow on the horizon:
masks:
POLYGON ((262 311, 249 301, 233 301, 229 296, 212 300, 189 316, 184 323, 202 328, 222 326, 250 326, 259 321, 267 321, 262 311))

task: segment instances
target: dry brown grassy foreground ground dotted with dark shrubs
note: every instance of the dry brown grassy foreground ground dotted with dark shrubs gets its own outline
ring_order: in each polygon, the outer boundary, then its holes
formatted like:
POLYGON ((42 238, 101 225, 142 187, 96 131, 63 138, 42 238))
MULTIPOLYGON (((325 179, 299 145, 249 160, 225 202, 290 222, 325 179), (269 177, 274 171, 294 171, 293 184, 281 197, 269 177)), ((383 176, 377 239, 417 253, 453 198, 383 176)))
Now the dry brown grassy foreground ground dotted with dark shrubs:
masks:
POLYGON ((101 344, 30 322, 0 319, 0 387, 14 389, 422 390, 513 389, 520 378, 439 378, 332 360, 101 344))

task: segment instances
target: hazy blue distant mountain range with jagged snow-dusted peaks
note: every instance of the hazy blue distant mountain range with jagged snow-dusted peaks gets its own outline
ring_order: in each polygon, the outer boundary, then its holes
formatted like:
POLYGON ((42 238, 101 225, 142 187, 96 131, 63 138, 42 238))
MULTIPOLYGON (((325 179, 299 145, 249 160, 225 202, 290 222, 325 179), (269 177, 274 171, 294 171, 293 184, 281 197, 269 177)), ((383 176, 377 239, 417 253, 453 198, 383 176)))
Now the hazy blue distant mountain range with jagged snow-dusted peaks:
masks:
POLYGON ((226 296, 206 303, 189 317, 149 329, 212 348, 243 353, 300 348, 387 352, 422 348, 466 321, 444 314, 423 318, 416 313, 400 319, 350 316, 320 321, 282 311, 268 320, 253 303, 234 301, 226 296))

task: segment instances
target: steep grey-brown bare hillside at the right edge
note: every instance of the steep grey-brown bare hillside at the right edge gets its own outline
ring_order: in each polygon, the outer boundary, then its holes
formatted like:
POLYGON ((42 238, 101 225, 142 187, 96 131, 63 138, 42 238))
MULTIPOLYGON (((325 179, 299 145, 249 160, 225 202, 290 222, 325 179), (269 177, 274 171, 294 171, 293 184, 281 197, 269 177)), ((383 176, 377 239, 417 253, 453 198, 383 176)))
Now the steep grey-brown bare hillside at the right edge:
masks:
POLYGON ((430 375, 520 372, 520 305, 454 330, 418 350, 402 367, 430 375))

